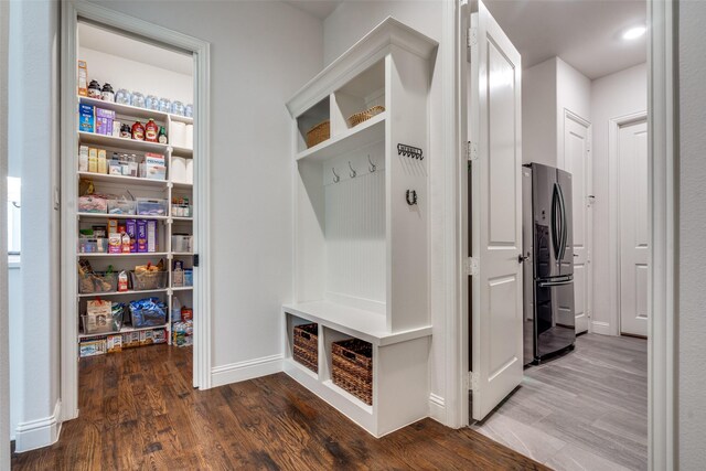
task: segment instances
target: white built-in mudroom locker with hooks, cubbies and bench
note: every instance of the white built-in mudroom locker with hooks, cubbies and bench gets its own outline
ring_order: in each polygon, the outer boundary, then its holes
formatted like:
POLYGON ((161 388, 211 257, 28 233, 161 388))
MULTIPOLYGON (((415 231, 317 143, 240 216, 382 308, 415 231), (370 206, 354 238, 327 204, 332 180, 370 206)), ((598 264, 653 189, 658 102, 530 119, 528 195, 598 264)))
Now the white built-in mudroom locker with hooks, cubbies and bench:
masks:
POLYGON ((295 295, 282 306, 284 370, 375 437, 429 413, 428 96, 437 46, 388 18, 287 104, 295 295), (376 105, 385 110, 357 126, 346 120, 376 105), (330 138, 307 148, 307 131, 327 119, 330 138), (293 360, 293 327, 311 322, 318 373, 293 360), (372 344, 372 405, 332 381, 331 344, 351 338, 372 344))

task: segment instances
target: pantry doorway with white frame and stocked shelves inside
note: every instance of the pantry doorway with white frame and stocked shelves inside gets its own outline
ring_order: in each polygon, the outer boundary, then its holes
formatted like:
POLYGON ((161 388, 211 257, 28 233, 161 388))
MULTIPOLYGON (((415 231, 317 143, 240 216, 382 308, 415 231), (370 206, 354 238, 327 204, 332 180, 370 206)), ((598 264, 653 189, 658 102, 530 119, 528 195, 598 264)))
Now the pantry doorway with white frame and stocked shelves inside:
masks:
POLYGON ((210 45, 88 2, 61 39, 63 421, 87 356, 193 349, 211 387, 210 45))

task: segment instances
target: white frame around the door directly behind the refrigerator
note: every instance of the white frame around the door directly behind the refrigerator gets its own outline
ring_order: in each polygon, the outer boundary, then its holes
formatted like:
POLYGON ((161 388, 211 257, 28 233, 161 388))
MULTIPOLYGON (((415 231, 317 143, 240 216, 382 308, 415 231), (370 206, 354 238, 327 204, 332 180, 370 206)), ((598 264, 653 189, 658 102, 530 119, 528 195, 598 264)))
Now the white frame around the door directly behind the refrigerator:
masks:
MULTIPOLYGON (((571 111, 568 108, 564 108, 564 122, 561 122, 561 169, 566 170, 566 120, 570 119, 578 125, 581 125, 586 128, 587 135, 587 144, 588 144, 588 165, 586 168, 586 181, 584 184, 586 185, 586 193, 588 195, 593 194, 593 125, 592 122, 581 118, 576 113, 571 111)), ((576 197, 576 194, 574 194, 576 197)), ((585 196, 584 196, 585 197, 585 196)), ((584 201, 584 204, 587 202, 584 201)), ((586 332, 593 332, 593 203, 591 202, 588 205, 588 215, 587 215, 586 225, 589 228, 587 231, 586 236, 586 292, 584 296, 586 297, 586 312, 585 315, 588 319, 588 330, 586 332)), ((576 290, 576 287, 574 288, 576 290)))

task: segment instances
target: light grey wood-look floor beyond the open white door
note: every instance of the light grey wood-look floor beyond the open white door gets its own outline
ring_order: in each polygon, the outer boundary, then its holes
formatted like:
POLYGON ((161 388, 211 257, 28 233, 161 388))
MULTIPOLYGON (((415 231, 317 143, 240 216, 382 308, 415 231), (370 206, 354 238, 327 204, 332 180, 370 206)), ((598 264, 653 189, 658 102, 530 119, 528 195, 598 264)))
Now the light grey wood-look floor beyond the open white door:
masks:
POLYGON ((556 470, 648 469, 648 342, 584 334, 473 430, 556 470))

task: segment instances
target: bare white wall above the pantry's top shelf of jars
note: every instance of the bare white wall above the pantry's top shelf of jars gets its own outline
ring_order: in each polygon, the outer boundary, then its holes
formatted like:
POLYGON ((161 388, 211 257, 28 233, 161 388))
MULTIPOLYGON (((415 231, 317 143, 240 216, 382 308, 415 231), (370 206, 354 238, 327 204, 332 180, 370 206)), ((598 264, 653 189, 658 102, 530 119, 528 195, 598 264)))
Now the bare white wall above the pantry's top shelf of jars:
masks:
POLYGON ((191 75, 180 74, 165 68, 82 46, 78 58, 86 61, 88 81, 108 82, 115 92, 126 88, 142 95, 156 95, 158 98, 180 100, 184 105, 193 104, 194 85, 191 75))

